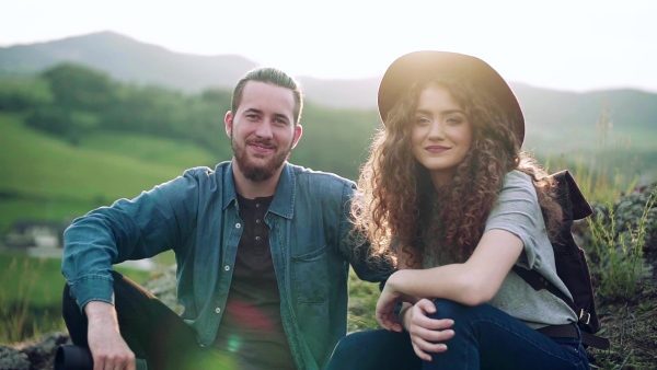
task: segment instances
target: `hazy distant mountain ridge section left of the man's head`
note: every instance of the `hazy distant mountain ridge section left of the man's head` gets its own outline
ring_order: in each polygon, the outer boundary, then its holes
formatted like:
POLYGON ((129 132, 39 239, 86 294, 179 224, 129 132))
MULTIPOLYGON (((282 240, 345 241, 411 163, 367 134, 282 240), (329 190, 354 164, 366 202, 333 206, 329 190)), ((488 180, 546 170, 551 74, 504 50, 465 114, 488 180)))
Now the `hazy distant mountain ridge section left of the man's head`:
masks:
POLYGON ((119 80, 185 91, 232 86, 245 71, 256 66, 240 56, 174 53, 114 32, 100 32, 0 48, 0 77, 32 74, 65 60, 107 71, 119 80))

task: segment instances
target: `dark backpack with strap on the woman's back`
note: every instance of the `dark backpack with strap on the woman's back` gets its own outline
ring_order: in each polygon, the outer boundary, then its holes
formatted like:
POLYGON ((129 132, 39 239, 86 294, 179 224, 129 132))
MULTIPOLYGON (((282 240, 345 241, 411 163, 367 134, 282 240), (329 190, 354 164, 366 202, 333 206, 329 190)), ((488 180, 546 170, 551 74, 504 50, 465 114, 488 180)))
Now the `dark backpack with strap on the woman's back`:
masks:
POLYGON ((575 311, 585 346, 600 349, 609 348, 607 338, 595 335, 600 329, 600 321, 596 312, 593 286, 589 274, 585 252, 577 245, 570 228, 574 220, 581 220, 593 213, 590 205, 577 187, 575 180, 567 170, 551 175, 557 183, 556 200, 563 208, 561 238, 552 243, 556 273, 562 279, 573 300, 567 298, 553 284, 544 279, 535 270, 514 266, 514 271, 527 281, 534 290, 548 289, 566 302, 575 311))

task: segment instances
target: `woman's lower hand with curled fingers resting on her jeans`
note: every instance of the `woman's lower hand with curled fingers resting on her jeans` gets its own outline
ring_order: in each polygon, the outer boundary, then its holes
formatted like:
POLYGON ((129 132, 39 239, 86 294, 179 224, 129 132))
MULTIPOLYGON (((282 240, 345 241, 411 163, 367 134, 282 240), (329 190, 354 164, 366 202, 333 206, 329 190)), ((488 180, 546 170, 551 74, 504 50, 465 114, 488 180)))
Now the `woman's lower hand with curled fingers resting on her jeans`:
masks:
POLYGON ((420 299, 413 307, 402 311, 400 321, 411 335, 415 355, 425 361, 430 361, 429 352, 438 354, 447 350, 442 342, 454 336, 450 327, 454 322, 450 319, 436 320, 427 314, 436 313, 436 305, 428 299, 420 299))

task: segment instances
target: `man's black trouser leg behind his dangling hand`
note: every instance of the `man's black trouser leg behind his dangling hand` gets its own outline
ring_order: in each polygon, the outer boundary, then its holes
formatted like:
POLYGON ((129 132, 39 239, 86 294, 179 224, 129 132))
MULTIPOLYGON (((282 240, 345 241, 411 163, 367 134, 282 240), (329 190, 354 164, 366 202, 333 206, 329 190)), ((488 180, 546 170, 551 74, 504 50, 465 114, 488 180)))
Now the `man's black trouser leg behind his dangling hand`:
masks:
MULTIPOLYGON (((113 271, 114 303, 120 334, 137 358, 150 369, 200 369, 210 351, 196 342, 196 333, 175 312, 123 275, 113 271)), ((62 315, 74 345, 89 348, 87 315, 64 288, 62 315)), ((220 366, 220 365, 219 365, 220 366)), ((215 361, 215 369, 219 368, 215 361)))

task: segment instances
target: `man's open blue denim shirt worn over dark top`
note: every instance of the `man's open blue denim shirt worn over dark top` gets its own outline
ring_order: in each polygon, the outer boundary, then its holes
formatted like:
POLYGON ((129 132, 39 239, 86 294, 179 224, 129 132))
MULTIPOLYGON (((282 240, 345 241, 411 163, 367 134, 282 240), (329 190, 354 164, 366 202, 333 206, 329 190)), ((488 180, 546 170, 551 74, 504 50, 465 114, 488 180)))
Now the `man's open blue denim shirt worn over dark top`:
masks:
MULTIPOLYGON (((243 222, 231 162, 195 167, 138 197, 76 219, 65 232, 62 274, 80 309, 112 303, 113 264, 173 250, 182 317, 211 347, 232 278, 243 222)), ((289 163, 265 215, 280 290, 280 314, 299 369, 325 367, 346 334, 349 264, 360 279, 383 281, 349 244, 355 184, 289 163)))

